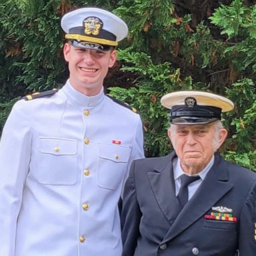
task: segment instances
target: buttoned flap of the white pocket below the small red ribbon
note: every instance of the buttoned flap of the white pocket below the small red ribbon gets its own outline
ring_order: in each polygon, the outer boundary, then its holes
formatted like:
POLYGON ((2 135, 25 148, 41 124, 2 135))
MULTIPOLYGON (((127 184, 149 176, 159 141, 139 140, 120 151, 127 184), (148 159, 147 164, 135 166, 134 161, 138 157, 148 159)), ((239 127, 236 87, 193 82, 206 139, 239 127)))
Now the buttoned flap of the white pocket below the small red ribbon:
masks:
POLYGON ((99 157, 117 163, 126 163, 129 160, 131 148, 124 145, 99 144, 99 157))

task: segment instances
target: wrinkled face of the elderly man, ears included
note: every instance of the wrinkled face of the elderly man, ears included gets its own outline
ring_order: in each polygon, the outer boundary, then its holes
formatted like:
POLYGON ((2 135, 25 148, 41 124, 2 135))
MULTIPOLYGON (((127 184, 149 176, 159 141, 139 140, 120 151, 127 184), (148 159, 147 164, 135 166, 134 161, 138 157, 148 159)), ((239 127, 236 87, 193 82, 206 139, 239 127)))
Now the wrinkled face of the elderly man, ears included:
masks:
POLYGON ((226 129, 207 125, 173 125, 168 131, 183 171, 195 174, 209 163, 227 136, 226 129))

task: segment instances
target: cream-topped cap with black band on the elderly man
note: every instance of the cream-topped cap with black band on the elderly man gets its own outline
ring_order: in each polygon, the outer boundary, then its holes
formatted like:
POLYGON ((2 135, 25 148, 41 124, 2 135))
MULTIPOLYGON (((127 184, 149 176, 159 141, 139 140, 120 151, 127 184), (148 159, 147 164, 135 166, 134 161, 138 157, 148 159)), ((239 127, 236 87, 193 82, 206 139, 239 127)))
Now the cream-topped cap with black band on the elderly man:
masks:
POLYGON ((234 103, 220 95, 204 91, 176 91, 161 98, 170 109, 170 121, 176 125, 199 125, 221 119, 221 113, 231 111, 234 103))

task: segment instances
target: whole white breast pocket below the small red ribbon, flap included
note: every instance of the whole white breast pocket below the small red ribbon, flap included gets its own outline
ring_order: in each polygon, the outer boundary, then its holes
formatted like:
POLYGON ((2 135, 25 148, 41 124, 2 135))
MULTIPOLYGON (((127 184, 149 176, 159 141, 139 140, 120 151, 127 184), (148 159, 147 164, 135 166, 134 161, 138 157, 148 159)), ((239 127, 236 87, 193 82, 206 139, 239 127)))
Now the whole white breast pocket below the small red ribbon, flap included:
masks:
POLYGON ((124 145, 99 144, 97 185, 105 189, 117 189, 127 171, 131 148, 124 145))

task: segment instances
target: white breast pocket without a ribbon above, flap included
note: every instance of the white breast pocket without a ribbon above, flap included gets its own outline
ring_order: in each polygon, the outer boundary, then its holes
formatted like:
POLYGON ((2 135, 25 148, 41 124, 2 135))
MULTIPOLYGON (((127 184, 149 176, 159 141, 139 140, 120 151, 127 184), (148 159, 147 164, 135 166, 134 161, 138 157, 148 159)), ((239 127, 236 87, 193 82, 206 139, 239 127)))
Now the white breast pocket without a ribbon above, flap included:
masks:
POLYGON ((77 183, 77 141, 56 137, 39 137, 38 161, 33 175, 45 185, 77 183))

